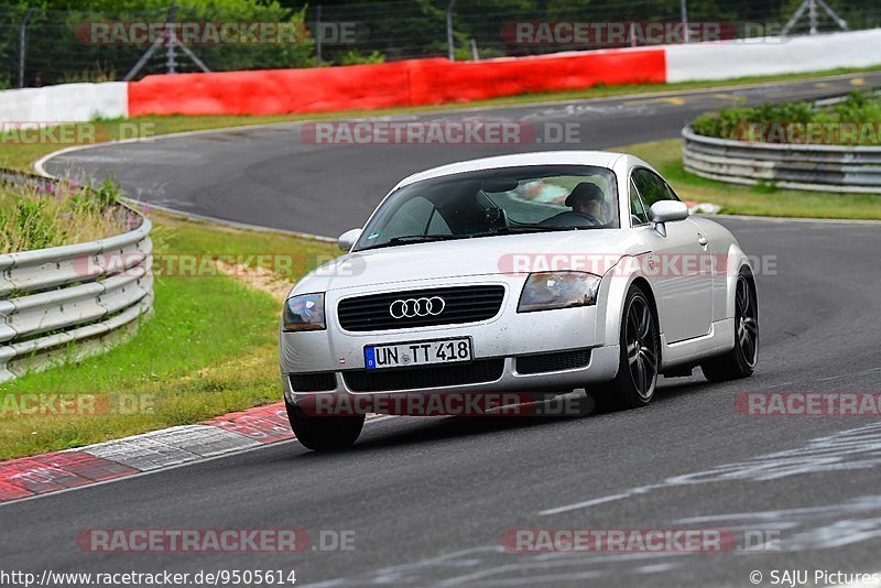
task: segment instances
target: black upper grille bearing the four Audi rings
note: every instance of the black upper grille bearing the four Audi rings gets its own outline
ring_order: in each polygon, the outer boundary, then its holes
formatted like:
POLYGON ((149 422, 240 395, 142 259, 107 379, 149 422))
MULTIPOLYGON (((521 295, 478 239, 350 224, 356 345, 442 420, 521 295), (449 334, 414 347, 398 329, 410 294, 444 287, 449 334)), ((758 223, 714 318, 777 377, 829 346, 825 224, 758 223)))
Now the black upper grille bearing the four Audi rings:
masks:
POLYGON ((433 325, 456 325, 487 320, 499 314, 504 286, 457 286, 371 294, 340 301, 339 324, 346 330, 384 330, 433 325), (436 316, 394 318, 389 308, 394 301, 440 296, 445 306, 436 316))

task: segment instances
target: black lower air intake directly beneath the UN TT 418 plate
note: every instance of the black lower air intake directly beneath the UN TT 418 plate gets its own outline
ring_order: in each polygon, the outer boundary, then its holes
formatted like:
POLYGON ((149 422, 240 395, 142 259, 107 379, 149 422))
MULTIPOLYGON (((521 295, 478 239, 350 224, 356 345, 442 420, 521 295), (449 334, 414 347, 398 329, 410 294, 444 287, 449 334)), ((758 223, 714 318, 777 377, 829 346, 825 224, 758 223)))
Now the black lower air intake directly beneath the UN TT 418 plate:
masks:
POLYGON ((494 382, 503 371, 504 358, 494 358, 426 368, 352 370, 342 372, 342 379, 354 392, 394 392, 494 382))

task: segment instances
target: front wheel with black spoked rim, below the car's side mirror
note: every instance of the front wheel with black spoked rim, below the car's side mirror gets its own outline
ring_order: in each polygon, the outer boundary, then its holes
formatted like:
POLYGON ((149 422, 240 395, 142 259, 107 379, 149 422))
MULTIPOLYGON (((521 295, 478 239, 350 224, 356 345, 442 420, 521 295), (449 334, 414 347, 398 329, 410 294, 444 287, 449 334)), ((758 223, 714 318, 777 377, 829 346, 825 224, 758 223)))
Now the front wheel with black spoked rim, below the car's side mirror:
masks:
POLYGON ((639 409, 652 401, 661 363, 661 339, 649 297, 638 286, 624 301, 618 374, 607 384, 592 386, 588 393, 601 411, 639 409))

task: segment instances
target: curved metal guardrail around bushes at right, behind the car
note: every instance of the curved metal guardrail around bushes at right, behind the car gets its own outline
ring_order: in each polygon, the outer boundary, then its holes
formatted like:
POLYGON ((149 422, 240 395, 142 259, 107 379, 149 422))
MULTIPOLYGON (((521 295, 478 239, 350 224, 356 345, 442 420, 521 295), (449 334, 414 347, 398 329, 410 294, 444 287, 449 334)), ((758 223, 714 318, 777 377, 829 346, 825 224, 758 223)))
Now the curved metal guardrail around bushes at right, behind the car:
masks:
POLYGON ((881 192, 881 148, 751 143, 682 131, 685 170, 732 184, 773 183, 783 188, 881 192))

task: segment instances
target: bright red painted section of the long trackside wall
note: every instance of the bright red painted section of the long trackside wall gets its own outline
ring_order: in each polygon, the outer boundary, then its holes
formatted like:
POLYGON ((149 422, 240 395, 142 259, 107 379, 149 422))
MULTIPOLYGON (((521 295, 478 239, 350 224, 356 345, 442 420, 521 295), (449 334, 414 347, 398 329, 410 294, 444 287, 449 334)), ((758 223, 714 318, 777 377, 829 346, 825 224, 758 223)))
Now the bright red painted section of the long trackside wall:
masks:
POLYGON ((373 110, 589 88, 599 83, 664 83, 665 78, 664 50, 161 75, 129 84, 129 116, 373 110))

